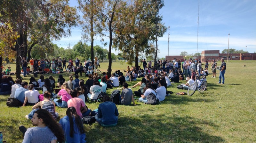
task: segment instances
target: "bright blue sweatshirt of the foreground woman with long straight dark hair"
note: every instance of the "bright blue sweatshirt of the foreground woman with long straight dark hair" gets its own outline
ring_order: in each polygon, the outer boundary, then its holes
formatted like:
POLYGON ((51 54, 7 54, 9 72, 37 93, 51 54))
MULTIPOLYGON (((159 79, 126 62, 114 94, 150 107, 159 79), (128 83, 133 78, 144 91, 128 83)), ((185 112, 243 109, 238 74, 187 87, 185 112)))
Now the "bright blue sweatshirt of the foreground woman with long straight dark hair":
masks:
MULTIPOLYGON (((82 119, 81 119, 82 120, 82 119)), ((70 137, 69 132, 70 132, 70 124, 69 124, 69 118, 68 116, 64 116, 63 118, 60 119, 60 125, 64 131, 65 138, 66 138, 66 143, 85 143, 85 133, 80 134, 80 131, 76 125, 75 118, 73 118, 73 123, 74 123, 74 134, 73 138, 70 137)))

